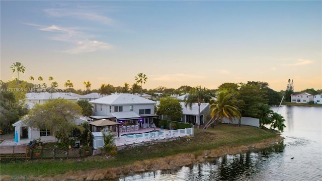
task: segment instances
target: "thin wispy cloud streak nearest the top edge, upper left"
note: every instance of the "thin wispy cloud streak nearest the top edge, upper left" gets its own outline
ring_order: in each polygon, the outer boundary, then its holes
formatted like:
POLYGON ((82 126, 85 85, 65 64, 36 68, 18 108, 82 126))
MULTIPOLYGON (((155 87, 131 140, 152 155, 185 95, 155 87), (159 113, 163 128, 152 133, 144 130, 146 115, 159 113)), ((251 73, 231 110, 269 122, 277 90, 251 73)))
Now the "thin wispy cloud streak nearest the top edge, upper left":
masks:
POLYGON ((90 12, 89 10, 86 10, 86 9, 80 9, 80 10, 66 9, 66 8, 45 9, 44 12, 47 15, 52 17, 58 17, 58 18, 72 17, 76 19, 97 22, 105 25, 113 25, 115 22, 109 17, 98 15, 97 13, 90 12))

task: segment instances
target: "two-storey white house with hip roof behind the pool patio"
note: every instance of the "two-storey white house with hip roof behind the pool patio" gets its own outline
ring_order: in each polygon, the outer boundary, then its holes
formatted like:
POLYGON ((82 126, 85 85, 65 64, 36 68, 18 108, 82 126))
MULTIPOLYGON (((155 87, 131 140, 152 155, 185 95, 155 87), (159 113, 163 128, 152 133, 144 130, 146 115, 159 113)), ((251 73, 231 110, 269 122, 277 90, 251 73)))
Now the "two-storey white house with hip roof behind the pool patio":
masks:
POLYGON ((150 124, 156 102, 132 94, 112 94, 90 101, 94 111, 92 119, 110 119, 118 123, 150 124))

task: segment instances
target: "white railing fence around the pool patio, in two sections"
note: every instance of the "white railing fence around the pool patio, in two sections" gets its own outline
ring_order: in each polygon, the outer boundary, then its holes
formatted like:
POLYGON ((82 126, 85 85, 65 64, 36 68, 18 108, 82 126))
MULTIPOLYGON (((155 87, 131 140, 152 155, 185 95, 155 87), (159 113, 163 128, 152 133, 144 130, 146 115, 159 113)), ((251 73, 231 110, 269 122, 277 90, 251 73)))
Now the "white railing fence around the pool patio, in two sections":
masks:
MULTIPOLYGON (((131 134, 126 136, 115 137, 114 143, 116 146, 123 146, 141 142, 148 142, 154 140, 178 138, 185 136, 193 136, 193 128, 169 130, 169 131, 155 131, 139 134, 131 134)), ((102 136, 94 137, 94 149, 104 146, 104 141, 102 136)))

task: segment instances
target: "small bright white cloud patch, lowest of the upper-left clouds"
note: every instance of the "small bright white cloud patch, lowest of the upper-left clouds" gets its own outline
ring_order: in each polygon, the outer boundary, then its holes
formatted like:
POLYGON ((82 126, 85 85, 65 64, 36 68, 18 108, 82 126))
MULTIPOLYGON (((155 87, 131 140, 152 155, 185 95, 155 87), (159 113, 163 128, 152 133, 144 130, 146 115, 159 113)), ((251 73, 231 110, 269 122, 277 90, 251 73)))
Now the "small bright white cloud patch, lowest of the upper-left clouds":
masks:
POLYGON ((69 54, 78 54, 78 53, 86 53, 86 52, 94 52, 98 50, 109 50, 113 46, 105 43, 105 42, 100 42, 100 41, 90 41, 90 40, 85 40, 85 41, 79 41, 77 42, 77 47, 63 51, 69 54))

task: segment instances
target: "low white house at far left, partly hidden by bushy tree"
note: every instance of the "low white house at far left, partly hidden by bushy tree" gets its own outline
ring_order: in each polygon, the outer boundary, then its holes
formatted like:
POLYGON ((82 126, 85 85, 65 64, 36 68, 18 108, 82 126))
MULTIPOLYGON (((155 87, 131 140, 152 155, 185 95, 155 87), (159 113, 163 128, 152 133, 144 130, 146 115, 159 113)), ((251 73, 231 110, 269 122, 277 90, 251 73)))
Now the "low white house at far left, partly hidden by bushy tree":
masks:
MULTIPOLYGON (((57 141, 54 136, 53 130, 41 129, 28 127, 24 124, 24 120, 28 119, 28 115, 23 117, 21 120, 13 124, 15 127, 15 133, 18 134, 17 144, 28 144, 30 141, 40 138, 42 142, 54 142, 57 141)), ((80 116, 78 119, 75 119, 75 124, 83 124, 87 122, 86 118, 80 116)))

